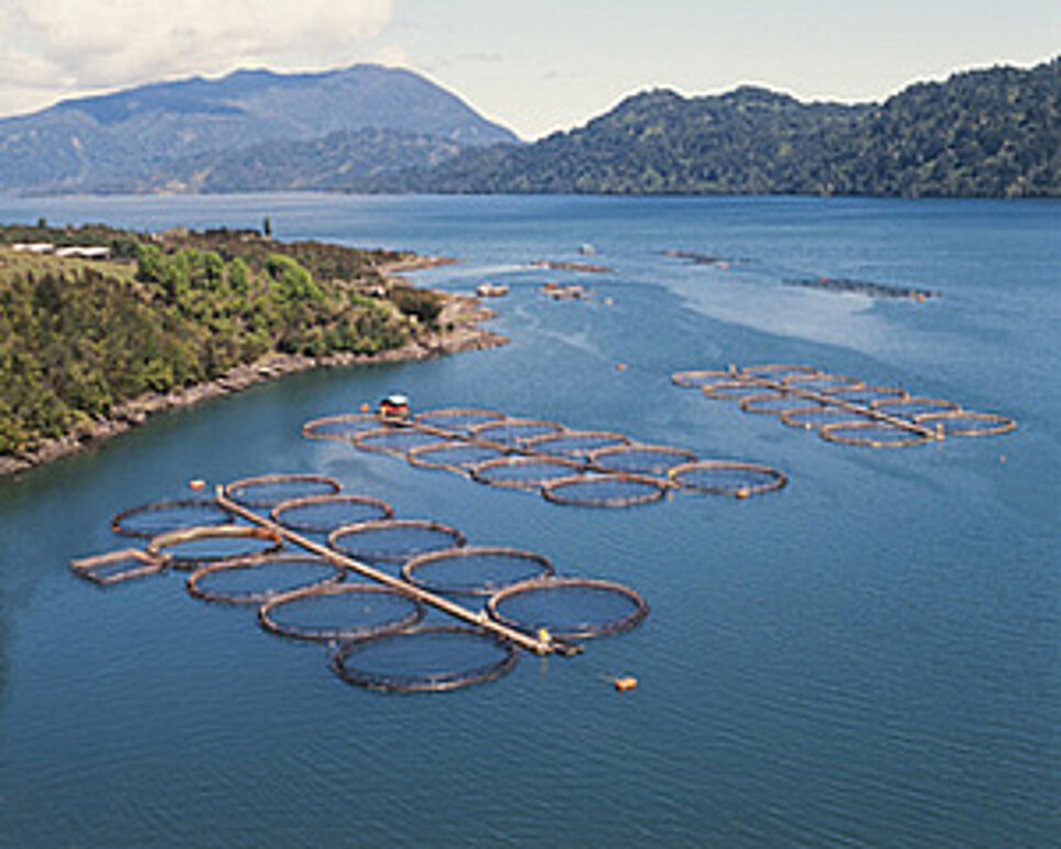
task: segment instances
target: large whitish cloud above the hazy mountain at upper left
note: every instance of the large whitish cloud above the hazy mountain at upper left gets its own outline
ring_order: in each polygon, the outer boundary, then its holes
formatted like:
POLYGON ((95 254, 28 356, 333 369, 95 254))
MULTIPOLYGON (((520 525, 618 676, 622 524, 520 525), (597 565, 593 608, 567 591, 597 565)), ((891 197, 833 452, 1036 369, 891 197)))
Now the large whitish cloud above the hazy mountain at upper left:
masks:
POLYGON ((347 62, 391 0, 0 0, 0 81, 103 88, 237 66, 347 62))

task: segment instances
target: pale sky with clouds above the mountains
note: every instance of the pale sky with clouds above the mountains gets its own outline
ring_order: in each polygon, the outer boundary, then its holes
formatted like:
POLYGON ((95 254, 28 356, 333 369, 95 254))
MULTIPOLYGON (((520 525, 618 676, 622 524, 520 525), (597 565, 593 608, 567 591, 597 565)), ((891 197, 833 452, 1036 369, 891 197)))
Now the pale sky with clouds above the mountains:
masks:
POLYGON ((649 88, 882 100, 1059 54, 1058 0, 0 0, 0 115, 237 68, 371 62, 533 139, 649 88))

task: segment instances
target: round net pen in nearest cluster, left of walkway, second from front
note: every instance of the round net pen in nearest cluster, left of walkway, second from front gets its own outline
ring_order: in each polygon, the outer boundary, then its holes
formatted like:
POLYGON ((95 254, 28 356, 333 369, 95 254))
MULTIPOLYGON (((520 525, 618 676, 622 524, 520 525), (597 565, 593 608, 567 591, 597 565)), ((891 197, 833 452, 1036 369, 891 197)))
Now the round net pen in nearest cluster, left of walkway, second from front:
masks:
POLYGON ((424 617, 424 605, 389 587, 337 583, 288 593, 258 608, 266 630, 308 640, 338 640, 409 628, 424 617))

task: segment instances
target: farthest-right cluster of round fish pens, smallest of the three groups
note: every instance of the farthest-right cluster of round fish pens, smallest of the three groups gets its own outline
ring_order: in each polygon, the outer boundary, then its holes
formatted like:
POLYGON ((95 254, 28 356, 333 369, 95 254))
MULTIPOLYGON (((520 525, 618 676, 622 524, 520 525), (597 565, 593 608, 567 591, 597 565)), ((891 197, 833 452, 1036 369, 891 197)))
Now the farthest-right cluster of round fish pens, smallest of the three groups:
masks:
POLYGON ((1017 423, 965 410, 953 401, 912 395, 813 366, 767 364, 725 370, 678 371, 671 382, 706 398, 736 401, 747 413, 775 415, 822 438, 872 448, 905 448, 949 436, 993 436, 1017 423))

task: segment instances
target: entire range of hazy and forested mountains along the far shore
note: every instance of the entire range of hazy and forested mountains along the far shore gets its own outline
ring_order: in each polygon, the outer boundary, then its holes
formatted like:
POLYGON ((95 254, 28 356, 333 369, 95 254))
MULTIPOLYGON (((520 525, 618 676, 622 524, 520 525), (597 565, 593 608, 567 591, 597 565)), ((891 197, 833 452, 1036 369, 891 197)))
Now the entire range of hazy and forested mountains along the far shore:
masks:
POLYGON ((237 71, 0 120, 0 191, 1061 197, 1061 58, 884 103, 635 94, 523 144, 407 70, 237 71))

